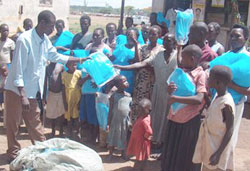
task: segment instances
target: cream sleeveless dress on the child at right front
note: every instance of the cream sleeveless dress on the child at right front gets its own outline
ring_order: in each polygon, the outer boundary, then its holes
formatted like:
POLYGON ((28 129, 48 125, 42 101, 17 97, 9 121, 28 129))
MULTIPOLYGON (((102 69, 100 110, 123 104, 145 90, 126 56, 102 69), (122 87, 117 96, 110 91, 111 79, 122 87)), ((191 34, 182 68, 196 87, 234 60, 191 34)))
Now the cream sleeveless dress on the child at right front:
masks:
POLYGON ((235 104, 232 96, 227 93, 217 98, 216 95, 206 112, 207 118, 201 124, 193 157, 194 163, 203 163, 206 168, 211 170, 234 170, 232 138, 222 152, 219 163, 215 166, 209 164, 210 157, 219 149, 226 133, 226 123, 223 121, 221 111, 225 105, 229 105, 232 108, 233 115, 235 115, 235 104))

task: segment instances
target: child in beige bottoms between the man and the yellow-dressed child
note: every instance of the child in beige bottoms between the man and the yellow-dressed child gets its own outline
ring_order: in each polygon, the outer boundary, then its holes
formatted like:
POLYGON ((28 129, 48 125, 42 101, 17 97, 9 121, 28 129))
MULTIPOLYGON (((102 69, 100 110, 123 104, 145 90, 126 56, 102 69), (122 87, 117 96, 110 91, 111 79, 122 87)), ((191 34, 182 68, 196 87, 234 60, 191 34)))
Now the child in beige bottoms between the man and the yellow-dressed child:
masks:
POLYGON ((50 63, 46 68, 46 81, 48 81, 48 101, 46 108, 46 117, 51 120, 51 137, 55 136, 56 121, 59 122, 59 136, 63 136, 64 104, 62 96, 62 64, 50 63))

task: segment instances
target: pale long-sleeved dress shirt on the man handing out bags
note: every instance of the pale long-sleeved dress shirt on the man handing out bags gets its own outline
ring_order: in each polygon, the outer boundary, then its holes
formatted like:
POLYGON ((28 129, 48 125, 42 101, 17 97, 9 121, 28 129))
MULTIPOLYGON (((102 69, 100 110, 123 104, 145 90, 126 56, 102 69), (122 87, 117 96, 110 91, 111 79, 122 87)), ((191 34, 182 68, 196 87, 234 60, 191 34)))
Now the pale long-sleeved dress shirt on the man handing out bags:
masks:
POLYGON ((41 38, 36 29, 21 34, 16 42, 5 89, 20 95, 18 87, 24 87, 27 98, 35 99, 43 94, 47 61, 66 64, 69 57, 57 53, 49 38, 41 38))

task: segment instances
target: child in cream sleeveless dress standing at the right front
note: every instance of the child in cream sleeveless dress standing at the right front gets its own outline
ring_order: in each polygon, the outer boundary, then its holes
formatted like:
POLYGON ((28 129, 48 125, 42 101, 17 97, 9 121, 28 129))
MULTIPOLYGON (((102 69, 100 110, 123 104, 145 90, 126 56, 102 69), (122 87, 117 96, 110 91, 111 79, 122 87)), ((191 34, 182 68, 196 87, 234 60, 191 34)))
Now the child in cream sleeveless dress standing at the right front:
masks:
POLYGON ((235 104, 227 92, 232 71, 225 66, 214 66, 210 71, 209 88, 217 94, 201 124, 193 157, 194 163, 203 163, 203 171, 234 170, 232 134, 235 104))

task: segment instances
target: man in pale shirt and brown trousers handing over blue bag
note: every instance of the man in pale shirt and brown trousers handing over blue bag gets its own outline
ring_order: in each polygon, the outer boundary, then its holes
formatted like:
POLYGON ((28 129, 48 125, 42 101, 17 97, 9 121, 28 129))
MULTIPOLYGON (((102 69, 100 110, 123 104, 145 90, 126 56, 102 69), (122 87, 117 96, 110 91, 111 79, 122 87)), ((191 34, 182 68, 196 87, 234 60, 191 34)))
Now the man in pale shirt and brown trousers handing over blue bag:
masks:
POLYGON ((21 148, 16 139, 21 116, 32 143, 45 140, 37 98, 43 95, 47 61, 63 64, 83 62, 82 58, 57 53, 48 38, 54 31, 55 22, 56 17, 52 12, 42 11, 38 15, 36 28, 21 34, 16 42, 16 50, 5 85, 7 154, 10 161, 15 159, 21 148))

